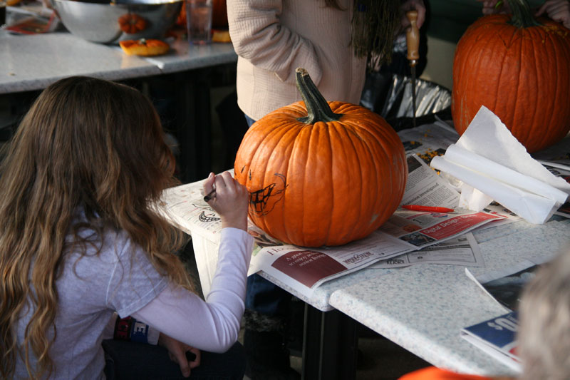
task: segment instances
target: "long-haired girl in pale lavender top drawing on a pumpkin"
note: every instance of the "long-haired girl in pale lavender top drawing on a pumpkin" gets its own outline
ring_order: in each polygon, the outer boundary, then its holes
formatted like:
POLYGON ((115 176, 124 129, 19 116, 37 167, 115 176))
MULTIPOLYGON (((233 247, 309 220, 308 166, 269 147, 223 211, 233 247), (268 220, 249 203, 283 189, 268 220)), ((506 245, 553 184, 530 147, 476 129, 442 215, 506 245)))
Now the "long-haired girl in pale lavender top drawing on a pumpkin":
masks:
POLYGON ((204 182, 205 192, 215 184, 209 205, 223 227, 204 302, 173 253, 184 235, 155 212, 174 166, 152 103, 135 89, 72 77, 38 96, 0 169, 2 379, 104 379, 114 312, 157 329, 178 363, 153 369, 156 358, 138 356, 133 374, 242 379, 234 342, 252 251, 247 191, 229 173, 204 182))

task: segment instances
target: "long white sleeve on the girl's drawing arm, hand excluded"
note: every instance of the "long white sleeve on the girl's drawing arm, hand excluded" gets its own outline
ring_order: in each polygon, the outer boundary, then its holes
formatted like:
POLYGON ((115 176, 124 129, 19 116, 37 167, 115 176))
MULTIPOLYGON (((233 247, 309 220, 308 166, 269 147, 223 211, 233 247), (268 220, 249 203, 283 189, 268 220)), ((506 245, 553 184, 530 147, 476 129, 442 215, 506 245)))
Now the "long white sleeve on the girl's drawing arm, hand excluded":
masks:
POLYGON ((198 349, 227 351, 237 340, 244 312, 252 244, 244 230, 224 228, 206 302, 186 289, 169 286, 133 317, 198 349))

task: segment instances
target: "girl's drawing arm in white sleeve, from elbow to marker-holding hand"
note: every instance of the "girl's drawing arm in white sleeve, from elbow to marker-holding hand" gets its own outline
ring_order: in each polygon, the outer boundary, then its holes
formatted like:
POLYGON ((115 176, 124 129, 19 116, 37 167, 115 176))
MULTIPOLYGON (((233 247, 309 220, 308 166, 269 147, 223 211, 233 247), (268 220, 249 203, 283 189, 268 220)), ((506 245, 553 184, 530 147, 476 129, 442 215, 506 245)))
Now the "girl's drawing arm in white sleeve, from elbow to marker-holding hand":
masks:
POLYGON ((253 244, 247 233, 248 194, 228 172, 211 173, 204 194, 210 194, 208 204, 222 219, 217 269, 206 302, 180 287, 167 287, 133 316, 180 342, 223 352, 236 342, 244 313, 253 244))

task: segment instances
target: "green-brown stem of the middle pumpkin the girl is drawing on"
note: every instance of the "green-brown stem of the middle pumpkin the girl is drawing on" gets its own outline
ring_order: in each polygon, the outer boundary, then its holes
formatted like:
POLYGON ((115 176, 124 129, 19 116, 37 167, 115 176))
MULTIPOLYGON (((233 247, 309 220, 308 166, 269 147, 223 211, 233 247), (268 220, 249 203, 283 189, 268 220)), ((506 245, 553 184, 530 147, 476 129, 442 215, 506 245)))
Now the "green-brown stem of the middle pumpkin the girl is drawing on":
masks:
POLYGON ((341 118, 342 113, 334 113, 323 95, 316 88, 309 73, 304 68, 295 70, 297 88, 307 108, 307 115, 304 118, 297 118, 301 123, 314 124, 317 121, 328 123, 341 118))

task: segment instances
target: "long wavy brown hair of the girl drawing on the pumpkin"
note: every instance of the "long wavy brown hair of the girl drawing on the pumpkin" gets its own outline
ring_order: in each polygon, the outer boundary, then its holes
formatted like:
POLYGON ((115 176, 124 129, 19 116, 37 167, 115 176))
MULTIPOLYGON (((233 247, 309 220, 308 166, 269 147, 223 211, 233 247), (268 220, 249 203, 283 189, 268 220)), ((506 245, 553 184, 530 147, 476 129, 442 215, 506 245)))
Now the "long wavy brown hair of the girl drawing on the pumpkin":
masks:
POLYGON ((108 228, 125 230, 160 273, 192 289, 172 253, 185 235, 153 212, 162 190, 177 184, 163 136, 149 99, 118 83, 66 78, 31 106, 0 167, 2 379, 14 376, 16 355, 31 378, 53 371, 55 336, 46 332, 56 328, 56 279, 69 251, 66 236, 75 235, 74 250, 86 247, 77 244, 86 225, 99 236, 108 228), (74 224, 78 209, 87 220, 81 226, 74 224), (33 314, 19 344, 15 329, 26 303, 33 314))

